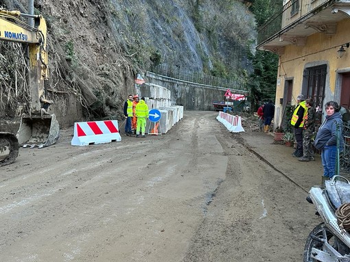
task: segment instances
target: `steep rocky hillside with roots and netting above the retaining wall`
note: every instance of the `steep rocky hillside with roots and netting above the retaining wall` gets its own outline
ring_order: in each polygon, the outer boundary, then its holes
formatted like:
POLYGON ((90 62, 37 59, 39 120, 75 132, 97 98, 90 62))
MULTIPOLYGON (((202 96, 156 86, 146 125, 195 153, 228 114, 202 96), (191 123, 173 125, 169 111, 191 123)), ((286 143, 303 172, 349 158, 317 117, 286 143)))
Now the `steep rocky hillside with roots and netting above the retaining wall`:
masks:
MULTIPOLYGON (((0 5, 27 12, 27 0, 0 5)), ((118 117, 137 73, 154 65, 242 77, 255 39, 253 16, 231 0, 36 0, 34 8, 49 29, 49 90, 75 94, 97 118, 118 117)))

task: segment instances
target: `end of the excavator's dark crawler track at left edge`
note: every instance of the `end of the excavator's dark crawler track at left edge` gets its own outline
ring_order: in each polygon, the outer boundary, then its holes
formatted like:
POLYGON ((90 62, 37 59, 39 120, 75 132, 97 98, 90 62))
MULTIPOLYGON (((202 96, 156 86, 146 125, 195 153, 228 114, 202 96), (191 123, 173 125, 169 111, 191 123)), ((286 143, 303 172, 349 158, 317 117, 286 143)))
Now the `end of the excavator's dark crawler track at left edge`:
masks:
POLYGON ((19 141, 16 135, 0 132, 0 166, 12 163, 19 155, 19 141))

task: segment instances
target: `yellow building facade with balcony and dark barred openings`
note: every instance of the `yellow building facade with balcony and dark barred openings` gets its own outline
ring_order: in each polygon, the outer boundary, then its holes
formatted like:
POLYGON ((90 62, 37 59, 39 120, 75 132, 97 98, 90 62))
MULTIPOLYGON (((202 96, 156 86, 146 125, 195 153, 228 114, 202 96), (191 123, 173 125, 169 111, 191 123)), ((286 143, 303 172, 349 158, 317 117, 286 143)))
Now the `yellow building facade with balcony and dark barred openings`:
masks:
POLYGON ((349 109, 350 3, 288 1, 280 19, 279 31, 261 28, 259 34, 266 38, 257 46, 279 55, 275 127, 282 125, 285 107, 296 105, 299 94, 314 99, 319 120, 327 101, 349 109))

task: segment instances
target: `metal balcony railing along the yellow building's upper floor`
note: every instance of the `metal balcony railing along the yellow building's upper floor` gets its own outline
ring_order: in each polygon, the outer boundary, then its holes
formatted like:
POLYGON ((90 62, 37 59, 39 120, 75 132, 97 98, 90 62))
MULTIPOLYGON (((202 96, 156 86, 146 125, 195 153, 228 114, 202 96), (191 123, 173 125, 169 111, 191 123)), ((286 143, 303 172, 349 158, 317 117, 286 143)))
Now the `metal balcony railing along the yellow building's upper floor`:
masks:
POLYGON ((299 18, 307 16, 312 12, 318 12, 321 5, 333 3, 334 0, 290 0, 281 10, 270 17, 264 25, 258 29, 257 42, 258 45, 266 41, 277 32, 285 29, 299 18))

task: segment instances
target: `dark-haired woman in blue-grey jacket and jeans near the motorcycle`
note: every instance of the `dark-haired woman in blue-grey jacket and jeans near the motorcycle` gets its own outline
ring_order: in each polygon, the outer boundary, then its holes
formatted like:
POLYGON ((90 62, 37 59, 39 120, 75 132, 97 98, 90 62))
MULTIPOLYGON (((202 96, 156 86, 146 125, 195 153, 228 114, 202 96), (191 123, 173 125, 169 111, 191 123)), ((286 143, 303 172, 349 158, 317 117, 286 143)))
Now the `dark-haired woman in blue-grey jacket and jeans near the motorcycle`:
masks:
POLYGON ((326 103, 325 109, 327 116, 318 129, 314 142, 315 148, 322 150, 323 180, 331 179, 336 174, 337 135, 340 135, 340 150, 344 146, 342 115, 338 112, 338 103, 329 101, 326 103))

